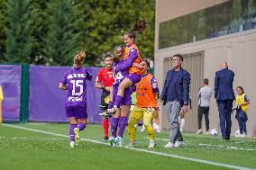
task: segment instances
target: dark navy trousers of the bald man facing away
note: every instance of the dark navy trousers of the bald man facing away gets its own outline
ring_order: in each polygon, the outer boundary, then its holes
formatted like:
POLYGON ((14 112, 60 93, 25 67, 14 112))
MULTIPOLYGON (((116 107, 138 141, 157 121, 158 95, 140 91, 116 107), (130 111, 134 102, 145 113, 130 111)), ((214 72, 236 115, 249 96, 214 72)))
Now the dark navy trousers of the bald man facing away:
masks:
POLYGON ((217 100, 220 126, 223 138, 230 138, 233 100, 217 100))

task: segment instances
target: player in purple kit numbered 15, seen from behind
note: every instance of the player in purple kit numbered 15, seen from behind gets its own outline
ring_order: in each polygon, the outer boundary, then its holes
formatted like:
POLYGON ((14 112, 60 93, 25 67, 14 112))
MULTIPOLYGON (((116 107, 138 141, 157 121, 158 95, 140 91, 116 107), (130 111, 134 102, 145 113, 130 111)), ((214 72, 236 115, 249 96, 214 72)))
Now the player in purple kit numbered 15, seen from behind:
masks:
POLYGON ((91 74, 83 67, 86 53, 79 52, 73 59, 74 65, 63 76, 59 89, 68 90, 66 94, 65 110, 69 118, 70 148, 74 148, 79 141, 79 131, 87 125, 87 83, 92 80, 91 74), (76 141, 76 142, 75 142, 76 141))

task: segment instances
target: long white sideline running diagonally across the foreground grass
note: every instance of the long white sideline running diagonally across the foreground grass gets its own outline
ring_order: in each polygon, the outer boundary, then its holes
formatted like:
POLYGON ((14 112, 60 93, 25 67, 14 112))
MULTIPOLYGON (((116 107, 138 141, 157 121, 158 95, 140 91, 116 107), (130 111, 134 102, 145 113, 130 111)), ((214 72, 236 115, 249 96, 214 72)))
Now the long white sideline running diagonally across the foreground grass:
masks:
MULTIPOLYGON (((30 131, 34 131, 34 132, 43 133, 43 134, 55 135, 55 136, 59 136, 59 137, 69 138, 68 135, 62 135, 62 134, 59 134, 59 133, 53 133, 53 132, 49 132, 49 131, 33 130, 33 129, 30 129, 30 128, 14 126, 14 125, 5 124, 5 123, 3 123, 3 125, 7 126, 7 127, 20 129, 20 130, 30 130, 30 131)), ((81 140, 90 141, 90 142, 97 143, 97 144, 109 145, 105 142, 101 142, 101 141, 93 140, 93 139, 81 139, 81 140)), ((141 151, 141 152, 145 152, 145 153, 150 153, 150 154, 154 154, 154 155, 159 155, 159 156, 173 157, 173 158, 188 160, 188 161, 202 163, 202 164, 211 165, 211 166, 221 166, 221 167, 227 167, 227 168, 232 168, 232 169, 240 169, 240 170, 252 170, 252 168, 249 168, 249 167, 233 166, 233 165, 229 165, 229 164, 217 163, 217 162, 207 161, 207 160, 202 160, 202 159, 197 159, 197 158, 176 156, 176 155, 172 155, 172 154, 167 154, 167 153, 162 153, 162 152, 157 152, 157 151, 152 151, 152 150, 146 150, 146 149, 142 149, 142 148, 127 148, 127 147, 124 147, 124 148, 131 149, 131 150, 136 150, 136 151, 141 151)))

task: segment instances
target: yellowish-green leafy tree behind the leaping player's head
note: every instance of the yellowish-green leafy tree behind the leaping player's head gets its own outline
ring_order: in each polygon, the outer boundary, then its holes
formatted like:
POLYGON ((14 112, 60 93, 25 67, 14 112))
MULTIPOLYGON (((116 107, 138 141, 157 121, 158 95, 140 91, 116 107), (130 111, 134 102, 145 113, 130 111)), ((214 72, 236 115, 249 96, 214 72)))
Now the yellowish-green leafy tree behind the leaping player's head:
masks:
POLYGON ((123 33, 132 29, 140 19, 150 27, 137 36, 142 57, 153 58, 154 1, 151 0, 77 0, 80 48, 87 49, 87 65, 99 66, 105 54, 114 46, 123 45, 123 33), (145 5, 147 4, 147 5, 145 5))

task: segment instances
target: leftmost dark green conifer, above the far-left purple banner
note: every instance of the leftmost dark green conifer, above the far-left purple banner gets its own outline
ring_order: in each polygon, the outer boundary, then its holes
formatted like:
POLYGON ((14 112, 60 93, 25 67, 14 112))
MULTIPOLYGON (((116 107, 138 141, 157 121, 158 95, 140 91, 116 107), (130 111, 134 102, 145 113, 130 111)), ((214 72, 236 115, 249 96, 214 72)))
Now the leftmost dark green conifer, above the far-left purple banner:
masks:
POLYGON ((32 51, 31 1, 9 0, 6 4, 5 60, 28 63, 32 51))

